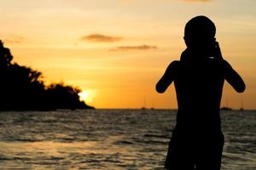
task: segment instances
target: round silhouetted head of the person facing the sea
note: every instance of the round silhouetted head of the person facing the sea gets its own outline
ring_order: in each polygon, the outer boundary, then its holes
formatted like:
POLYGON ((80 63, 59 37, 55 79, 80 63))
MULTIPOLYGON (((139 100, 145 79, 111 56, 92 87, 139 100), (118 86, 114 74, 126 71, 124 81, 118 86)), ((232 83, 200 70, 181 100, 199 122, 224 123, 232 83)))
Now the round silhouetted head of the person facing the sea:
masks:
POLYGON ((215 42, 216 27, 206 16, 196 16, 189 20, 184 30, 184 40, 191 50, 207 50, 215 42))

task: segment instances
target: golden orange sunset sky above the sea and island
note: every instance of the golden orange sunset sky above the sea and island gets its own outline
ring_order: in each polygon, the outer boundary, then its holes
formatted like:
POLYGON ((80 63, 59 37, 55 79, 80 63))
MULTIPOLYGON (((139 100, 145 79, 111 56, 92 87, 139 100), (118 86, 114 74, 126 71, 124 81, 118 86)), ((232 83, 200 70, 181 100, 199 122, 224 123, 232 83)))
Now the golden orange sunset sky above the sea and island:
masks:
POLYGON ((196 15, 217 26, 224 59, 247 85, 224 83, 222 106, 256 109, 255 0, 0 0, 0 39, 14 62, 42 71, 46 83, 82 90, 96 108, 177 108, 173 84, 154 87, 185 48, 196 15))

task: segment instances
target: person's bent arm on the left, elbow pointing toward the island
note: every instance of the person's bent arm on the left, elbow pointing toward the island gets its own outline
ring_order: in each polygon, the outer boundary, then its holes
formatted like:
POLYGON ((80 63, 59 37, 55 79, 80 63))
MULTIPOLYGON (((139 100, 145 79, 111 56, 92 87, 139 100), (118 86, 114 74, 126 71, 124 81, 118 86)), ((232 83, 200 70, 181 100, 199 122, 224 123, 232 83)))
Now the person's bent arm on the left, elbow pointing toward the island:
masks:
POLYGON ((179 61, 172 61, 172 63, 167 67, 164 76, 160 78, 159 82, 157 82, 155 89, 158 93, 164 93, 174 80, 175 74, 177 73, 178 62, 179 61))

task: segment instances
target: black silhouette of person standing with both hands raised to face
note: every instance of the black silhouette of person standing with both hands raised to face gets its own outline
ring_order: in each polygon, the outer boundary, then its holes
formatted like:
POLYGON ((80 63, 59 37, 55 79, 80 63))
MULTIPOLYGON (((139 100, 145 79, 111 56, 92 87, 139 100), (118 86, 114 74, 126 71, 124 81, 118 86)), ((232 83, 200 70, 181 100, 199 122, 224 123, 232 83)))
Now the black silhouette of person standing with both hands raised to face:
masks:
POLYGON ((220 169, 224 135, 219 106, 224 80, 238 93, 245 90, 245 83, 222 58, 215 33, 214 23, 206 16, 189 20, 183 37, 187 48, 156 84, 161 94, 174 82, 177 94, 177 123, 166 156, 167 169, 220 169))

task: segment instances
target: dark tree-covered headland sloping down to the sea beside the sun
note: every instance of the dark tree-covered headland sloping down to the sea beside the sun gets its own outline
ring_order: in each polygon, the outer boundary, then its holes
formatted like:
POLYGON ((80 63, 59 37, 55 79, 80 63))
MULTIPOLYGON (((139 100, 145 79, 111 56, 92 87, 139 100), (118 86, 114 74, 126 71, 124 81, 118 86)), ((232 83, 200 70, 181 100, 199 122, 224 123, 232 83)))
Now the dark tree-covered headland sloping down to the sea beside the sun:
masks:
POLYGON ((12 63, 9 48, 0 40, 0 111, 50 111, 94 109, 79 99, 79 88, 45 85, 42 72, 12 63))

